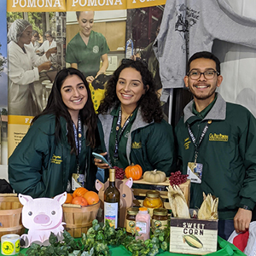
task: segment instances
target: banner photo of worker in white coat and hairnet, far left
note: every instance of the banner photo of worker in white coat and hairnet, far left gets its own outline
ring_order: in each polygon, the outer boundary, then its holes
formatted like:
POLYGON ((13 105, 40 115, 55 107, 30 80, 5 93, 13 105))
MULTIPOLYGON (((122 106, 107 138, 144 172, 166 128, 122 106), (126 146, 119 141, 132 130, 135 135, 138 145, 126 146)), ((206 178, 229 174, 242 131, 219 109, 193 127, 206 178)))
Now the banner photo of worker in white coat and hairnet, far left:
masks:
POLYGON ((66 12, 9 12, 9 115, 35 116, 65 67, 66 12))

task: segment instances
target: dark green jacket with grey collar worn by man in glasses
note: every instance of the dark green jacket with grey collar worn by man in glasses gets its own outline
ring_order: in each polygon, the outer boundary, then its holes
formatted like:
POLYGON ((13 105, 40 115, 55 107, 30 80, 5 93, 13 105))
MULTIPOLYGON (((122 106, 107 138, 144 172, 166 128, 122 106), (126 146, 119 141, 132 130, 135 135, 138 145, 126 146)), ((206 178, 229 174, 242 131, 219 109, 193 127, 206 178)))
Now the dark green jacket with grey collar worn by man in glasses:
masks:
POLYGON ((256 119, 247 108, 224 102, 218 94, 204 119, 192 113, 193 101, 175 128, 178 159, 183 173, 195 160, 195 145, 187 124, 198 139, 212 120, 201 142, 197 162, 203 165, 201 184, 192 183, 190 207, 201 207, 202 192, 218 197, 220 219, 234 218, 238 207, 253 209, 256 202, 256 119))

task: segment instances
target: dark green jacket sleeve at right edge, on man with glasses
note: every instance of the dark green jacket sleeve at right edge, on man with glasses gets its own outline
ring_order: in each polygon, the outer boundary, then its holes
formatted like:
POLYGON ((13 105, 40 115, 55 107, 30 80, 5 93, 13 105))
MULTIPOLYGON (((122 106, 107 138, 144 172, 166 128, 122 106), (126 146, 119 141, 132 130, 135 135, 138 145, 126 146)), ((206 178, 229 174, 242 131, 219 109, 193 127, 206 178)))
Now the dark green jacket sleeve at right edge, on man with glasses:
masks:
POLYGON ((248 122, 245 131, 242 132, 239 149, 246 168, 246 176, 240 191, 241 202, 253 209, 256 204, 256 119, 252 113, 248 113, 248 122))

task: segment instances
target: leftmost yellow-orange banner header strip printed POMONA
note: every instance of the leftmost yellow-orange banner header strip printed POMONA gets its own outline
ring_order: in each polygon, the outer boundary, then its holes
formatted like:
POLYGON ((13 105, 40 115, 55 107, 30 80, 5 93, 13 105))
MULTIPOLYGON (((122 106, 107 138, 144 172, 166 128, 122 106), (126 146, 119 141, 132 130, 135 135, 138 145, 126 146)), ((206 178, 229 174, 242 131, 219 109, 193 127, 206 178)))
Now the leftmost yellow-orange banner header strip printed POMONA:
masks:
POLYGON ((66 12, 65 0, 8 0, 8 12, 66 12))

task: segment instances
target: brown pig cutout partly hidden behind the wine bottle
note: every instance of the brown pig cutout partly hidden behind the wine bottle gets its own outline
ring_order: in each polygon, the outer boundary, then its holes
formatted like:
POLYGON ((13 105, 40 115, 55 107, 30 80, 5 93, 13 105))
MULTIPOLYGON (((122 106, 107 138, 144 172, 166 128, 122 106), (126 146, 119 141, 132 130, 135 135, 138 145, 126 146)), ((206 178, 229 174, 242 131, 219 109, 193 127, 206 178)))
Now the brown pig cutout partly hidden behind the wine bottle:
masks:
MULTIPOLYGON (((127 179, 127 181, 124 183, 123 181, 116 179, 115 180, 115 186, 117 189, 119 189, 120 192, 120 217, 119 217, 119 226, 120 227, 125 227, 125 215, 126 215, 126 210, 130 207, 133 206, 133 192, 131 189, 133 180, 130 177, 127 179)), ((101 183, 98 179, 96 179, 95 187, 99 191, 98 195, 100 200, 102 201, 102 209, 104 209, 104 191, 107 189, 109 186, 109 181, 106 183, 101 183)))

